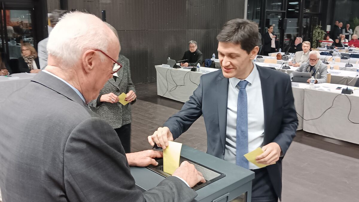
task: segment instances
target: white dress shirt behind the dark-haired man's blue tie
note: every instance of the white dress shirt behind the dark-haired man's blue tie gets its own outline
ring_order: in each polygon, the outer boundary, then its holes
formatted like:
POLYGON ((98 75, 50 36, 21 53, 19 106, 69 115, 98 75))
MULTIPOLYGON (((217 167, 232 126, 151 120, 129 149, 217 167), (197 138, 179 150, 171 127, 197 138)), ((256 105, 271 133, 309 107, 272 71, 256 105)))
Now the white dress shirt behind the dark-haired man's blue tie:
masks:
MULTIPOLYGON (((262 96, 261 79, 257 66, 244 80, 248 81, 246 86, 248 107, 248 152, 263 146, 264 138, 264 106, 262 96)), ((236 124, 237 124, 237 101, 241 79, 230 78, 228 84, 227 100, 227 132, 225 143, 224 160, 236 164, 236 124)), ((256 165, 249 163, 249 169, 258 169, 256 165)))

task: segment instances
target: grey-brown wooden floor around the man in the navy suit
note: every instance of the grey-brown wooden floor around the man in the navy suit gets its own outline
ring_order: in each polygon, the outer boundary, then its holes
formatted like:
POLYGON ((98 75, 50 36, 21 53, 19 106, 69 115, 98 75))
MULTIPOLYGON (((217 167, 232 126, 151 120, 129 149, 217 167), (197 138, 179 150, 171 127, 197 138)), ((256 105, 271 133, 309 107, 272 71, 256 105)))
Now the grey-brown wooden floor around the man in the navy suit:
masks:
MULTIPOLYGON (((183 105, 158 96, 156 89, 156 83, 136 85, 138 101, 132 105, 132 152, 150 149, 147 136, 183 105)), ((176 141, 206 152, 203 118, 176 141)), ((298 131, 283 160, 282 201, 359 201, 359 145, 298 131)))

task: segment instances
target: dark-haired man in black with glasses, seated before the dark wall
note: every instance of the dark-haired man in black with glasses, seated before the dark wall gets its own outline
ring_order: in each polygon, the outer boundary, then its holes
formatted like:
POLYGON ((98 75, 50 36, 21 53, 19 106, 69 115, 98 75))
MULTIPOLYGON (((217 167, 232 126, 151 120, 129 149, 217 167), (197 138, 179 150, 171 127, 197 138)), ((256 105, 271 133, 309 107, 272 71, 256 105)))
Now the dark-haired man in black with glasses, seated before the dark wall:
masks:
POLYGON ((185 63, 181 63, 181 66, 197 66, 197 63, 200 65, 203 61, 203 54, 200 50, 197 49, 197 42, 190 41, 188 42, 190 50, 186 51, 183 55, 182 60, 187 60, 185 63))

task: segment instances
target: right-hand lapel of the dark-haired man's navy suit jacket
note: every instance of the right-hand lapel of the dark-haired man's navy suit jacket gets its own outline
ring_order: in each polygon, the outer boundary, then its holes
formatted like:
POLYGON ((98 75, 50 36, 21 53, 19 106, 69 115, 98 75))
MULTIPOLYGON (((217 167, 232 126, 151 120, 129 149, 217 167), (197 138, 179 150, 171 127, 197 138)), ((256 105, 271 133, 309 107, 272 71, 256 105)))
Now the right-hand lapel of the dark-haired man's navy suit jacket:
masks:
POLYGON ((274 89, 273 81, 270 74, 265 74, 264 67, 258 66, 258 73, 261 79, 263 108, 264 108, 264 145, 267 144, 266 137, 268 134, 269 126, 271 124, 273 106, 274 106, 274 89))

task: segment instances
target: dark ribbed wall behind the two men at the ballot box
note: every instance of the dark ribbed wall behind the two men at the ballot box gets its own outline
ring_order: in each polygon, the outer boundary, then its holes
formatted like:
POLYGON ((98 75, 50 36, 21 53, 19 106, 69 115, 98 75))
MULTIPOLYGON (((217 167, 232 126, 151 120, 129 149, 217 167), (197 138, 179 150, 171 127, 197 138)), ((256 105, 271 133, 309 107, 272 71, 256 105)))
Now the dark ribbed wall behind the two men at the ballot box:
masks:
MULTIPOLYGON (((53 0, 48 0, 53 1, 53 0)), ((245 0, 69 0, 68 9, 101 17, 120 36, 121 54, 130 59, 134 83, 156 81, 154 65, 181 60, 195 40, 204 58, 217 55, 216 35, 223 24, 244 17, 245 0)))

